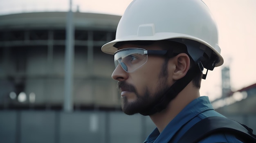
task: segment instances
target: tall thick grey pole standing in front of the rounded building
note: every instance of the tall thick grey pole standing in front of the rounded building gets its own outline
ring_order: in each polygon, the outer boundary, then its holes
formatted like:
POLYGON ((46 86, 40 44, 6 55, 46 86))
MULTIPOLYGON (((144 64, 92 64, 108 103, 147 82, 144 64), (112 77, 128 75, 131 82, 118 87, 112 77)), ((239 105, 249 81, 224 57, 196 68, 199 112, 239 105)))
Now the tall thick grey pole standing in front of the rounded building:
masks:
POLYGON ((73 111, 73 68, 74 68, 74 26, 72 0, 67 13, 66 48, 65 48, 65 86, 64 86, 64 111, 73 111))

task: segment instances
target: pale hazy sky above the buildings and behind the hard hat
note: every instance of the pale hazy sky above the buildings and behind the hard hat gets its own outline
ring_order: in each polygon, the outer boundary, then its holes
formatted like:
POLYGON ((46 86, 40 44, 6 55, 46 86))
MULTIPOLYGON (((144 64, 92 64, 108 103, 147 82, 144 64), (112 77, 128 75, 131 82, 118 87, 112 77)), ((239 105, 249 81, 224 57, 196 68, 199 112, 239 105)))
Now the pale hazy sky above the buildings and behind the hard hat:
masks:
MULTIPOLYGON (((132 0, 73 0, 73 11, 122 15, 132 0)), ((232 90, 256 83, 256 0, 203 0, 216 19, 224 65, 230 66, 232 90)), ((0 15, 67 11, 69 0, 0 0, 0 15)), ((114 64, 114 62, 113 62, 114 64)), ((221 95, 221 68, 209 71, 201 95, 221 95)))

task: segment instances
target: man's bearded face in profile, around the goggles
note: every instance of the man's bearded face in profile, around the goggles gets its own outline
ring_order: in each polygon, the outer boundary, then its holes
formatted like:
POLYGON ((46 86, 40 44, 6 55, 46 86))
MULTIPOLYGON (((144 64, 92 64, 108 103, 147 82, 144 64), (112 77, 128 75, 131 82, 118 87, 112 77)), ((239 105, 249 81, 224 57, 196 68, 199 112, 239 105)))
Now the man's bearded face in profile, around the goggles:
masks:
MULTIPOLYGON (((157 43, 150 46, 124 44, 118 47, 144 48, 146 50, 162 50, 157 43)), ((154 106, 164 92, 171 86, 168 73, 168 62, 163 56, 148 55, 147 62, 131 73, 127 73, 119 64, 112 73, 112 78, 119 81, 121 91, 121 107, 126 114, 140 113, 154 106)))

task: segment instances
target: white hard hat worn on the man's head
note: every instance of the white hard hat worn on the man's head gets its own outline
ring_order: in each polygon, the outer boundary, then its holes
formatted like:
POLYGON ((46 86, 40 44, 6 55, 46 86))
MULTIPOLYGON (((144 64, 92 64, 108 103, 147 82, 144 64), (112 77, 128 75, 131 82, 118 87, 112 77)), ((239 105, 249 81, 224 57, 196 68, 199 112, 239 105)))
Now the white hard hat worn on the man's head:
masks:
POLYGON ((208 46, 223 64, 218 46, 218 28, 202 0, 133 0, 117 26, 116 39, 104 44, 104 53, 114 54, 117 42, 189 39, 208 46))

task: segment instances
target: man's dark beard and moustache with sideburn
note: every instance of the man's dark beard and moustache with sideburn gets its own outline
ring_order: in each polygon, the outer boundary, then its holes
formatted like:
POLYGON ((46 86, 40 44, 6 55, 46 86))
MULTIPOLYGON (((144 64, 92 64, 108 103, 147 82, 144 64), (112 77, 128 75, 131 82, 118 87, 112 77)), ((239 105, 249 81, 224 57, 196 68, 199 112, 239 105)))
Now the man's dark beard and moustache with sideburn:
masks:
POLYGON ((129 92, 133 92, 137 99, 132 102, 128 102, 126 96, 121 98, 121 108, 125 114, 132 115, 136 113, 142 113, 146 110, 149 110, 153 106, 155 106, 160 99, 164 96, 164 93, 170 88, 167 84, 168 79, 168 72, 167 72, 167 62, 166 59, 163 66, 161 73, 159 74, 159 81, 155 84, 157 85, 156 90, 150 91, 148 87, 145 88, 145 92, 142 95, 139 95, 135 86, 132 84, 126 83, 126 81, 119 81, 118 88, 123 88, 128 90, 129 92))

